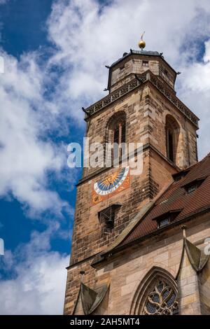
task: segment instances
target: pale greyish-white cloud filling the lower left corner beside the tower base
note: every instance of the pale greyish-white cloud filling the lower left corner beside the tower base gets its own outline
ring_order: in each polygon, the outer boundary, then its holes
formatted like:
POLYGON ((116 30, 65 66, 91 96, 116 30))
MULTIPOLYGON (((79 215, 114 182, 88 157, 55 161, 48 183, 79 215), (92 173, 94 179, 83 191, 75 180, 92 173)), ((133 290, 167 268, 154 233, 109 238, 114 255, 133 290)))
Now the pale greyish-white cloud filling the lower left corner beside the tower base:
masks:
POLYGON ((62 314, 68 262, 48 252, 20 264, 16 279, 0 281, 0 314, 62 314))

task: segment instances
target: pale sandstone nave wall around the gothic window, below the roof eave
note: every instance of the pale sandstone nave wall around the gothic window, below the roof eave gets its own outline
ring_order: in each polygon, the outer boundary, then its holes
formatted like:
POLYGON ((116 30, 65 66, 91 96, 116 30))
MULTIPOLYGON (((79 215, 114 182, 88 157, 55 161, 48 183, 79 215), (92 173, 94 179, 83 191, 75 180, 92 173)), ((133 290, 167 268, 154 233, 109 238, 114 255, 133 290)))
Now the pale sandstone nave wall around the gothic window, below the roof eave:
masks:
MULTIPOLYGON (((209 237, 209 223, 207 216, 206 218, 197 218, 189 223, 188 239, 196 243, 209 237)), ((179 227, 169 230, 159 237, 148 239, 138 246, 116 255, 107 265, 104 264, 103 267, 98 269, 98 281, 101 275, 107 273, 109 273, 111 279, 108 314, 130 314, 134 293, 152 267, 167 270, 175 279, 181 261, 182 246, 182 232, 179 227)), ((194 314, 198 314, 200 311, 199 305, 196 304, 199 301, 199 298, 196 299, 199 292, 195 280, 197 278, 193 279, 194 276, 191 275, 194 274, 195 271, 193 271, 192 267, 188 267, 186 262, 183 266, 182 279, 186 280, 188 276, 189 279, 187 286, 183 282, 182 289, 179 290, 179 307, 183 314, 191 314, 193 311, 194 314)))

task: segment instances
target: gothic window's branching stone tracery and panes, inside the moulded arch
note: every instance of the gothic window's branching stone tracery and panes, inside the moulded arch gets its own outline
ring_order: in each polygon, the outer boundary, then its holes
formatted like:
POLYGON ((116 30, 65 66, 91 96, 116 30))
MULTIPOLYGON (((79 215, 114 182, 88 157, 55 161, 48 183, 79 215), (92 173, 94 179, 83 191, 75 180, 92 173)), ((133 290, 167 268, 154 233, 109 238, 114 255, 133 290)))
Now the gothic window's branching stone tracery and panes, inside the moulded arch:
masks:
POLYGON ((174 315, 178 314, 177 293, 174 288, 161 278, 148 292, 144 304, 144 315, 174 315))

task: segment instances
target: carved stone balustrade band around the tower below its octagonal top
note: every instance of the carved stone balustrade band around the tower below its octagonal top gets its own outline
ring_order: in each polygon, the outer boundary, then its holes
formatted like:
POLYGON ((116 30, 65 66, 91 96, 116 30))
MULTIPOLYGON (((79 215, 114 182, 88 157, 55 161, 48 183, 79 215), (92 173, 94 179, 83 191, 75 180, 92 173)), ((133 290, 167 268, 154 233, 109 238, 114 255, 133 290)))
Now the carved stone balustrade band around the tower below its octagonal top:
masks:
POLYGON ((132 90, 136 90, 138 87, 140 87, 146 82, 150 82, 154 87, 156 87, 162 94, 165 95, 169 102, 176 106, 176 108, 179 109, 179 111, 181 111, 181 113, 183 113, 184 116, 188 118, 188 120, 190 120, 196 127, 198 127, 199 118, 197 118, 197 116, 195 116, 195 114, 190 111, 190 109, 188 109, 188 107, 183 104, 178 97, 176 97, 174 92, 172 92, 172 90, 170 90, 165 83, 162 83, 162 81, 160 81, 158 76, 155 76, 149 70, 142 74, 138 74, 136 78, 130 80, 130 82, 111 92, 106 97, 89 106, 87 109, 84 109, 85 120, 88 121, 88 119, 95 113, 102 111, 106 108, 106 106, 113 104, 113 102, 116 102, 116 100, 120 99, 120 97, 125 96, 132 90))

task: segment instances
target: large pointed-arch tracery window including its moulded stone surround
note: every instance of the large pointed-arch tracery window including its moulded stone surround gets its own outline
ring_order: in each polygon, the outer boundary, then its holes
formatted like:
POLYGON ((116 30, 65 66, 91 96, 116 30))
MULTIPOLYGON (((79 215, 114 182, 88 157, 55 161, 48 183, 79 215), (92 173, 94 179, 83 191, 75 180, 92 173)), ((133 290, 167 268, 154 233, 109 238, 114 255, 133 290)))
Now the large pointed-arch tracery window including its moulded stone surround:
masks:
POLYGON ((175 315, 179 313, 176 281, 169 272, 153 267, 139 284, 130 314, 175 315))

